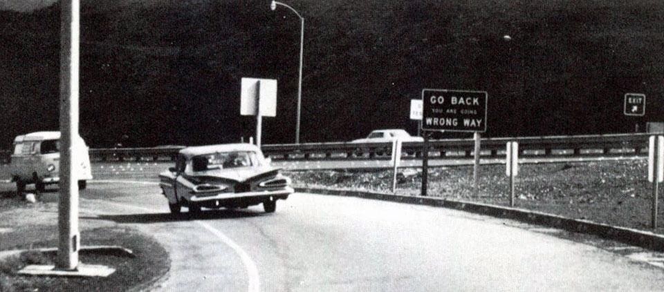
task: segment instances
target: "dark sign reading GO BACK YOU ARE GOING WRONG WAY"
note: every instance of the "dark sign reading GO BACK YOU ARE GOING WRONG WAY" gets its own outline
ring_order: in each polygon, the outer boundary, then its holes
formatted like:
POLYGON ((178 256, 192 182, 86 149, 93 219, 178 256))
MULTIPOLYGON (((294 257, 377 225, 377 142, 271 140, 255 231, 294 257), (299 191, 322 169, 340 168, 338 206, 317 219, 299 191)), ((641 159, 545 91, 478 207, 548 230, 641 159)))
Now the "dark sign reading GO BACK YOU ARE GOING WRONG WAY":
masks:
POLYGON ((422 90, 422 129, 485 132, 486 91, 422 90))

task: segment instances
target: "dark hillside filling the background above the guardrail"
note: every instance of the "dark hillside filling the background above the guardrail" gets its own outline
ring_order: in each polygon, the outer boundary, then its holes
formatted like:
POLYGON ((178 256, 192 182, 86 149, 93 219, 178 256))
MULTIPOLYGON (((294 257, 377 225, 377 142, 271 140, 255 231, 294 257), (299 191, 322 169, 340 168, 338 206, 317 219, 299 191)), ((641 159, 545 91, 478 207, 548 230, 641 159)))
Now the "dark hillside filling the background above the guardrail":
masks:
MULTIPOLYGON (((254 119, 239 116, 241 77, 279 81, 264 143, 294 141, 293 12, 268 0, 102 2, 84 1, 82 15, 89 144, 254 135, 254 119)), ((630 132, 664 114, 661 1, 291 2, 306 19, 302 142, 416 133, 409 100, 422 88, 487 90, 488 136, 630 132), (646 117, 624 117, 630 92, 647 95, 646 117)), ((0 11, 1 148, 57 128, 58 9, 0 11)))

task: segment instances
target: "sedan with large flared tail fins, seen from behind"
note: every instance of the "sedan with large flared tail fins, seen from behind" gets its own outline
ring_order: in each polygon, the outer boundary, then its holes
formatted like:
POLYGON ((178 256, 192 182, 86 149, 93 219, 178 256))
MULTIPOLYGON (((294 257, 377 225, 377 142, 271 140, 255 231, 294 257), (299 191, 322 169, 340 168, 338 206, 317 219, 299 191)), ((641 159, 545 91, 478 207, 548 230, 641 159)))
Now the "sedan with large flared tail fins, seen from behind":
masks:
POLYGON ((175 166, 159 174, 159 185, 171 213, 181 207, 247 208, 263 204, 273 213, 277 200, 293 193, 291 179, 270 165, 258 146, 219 144, 179 150, 175 166))

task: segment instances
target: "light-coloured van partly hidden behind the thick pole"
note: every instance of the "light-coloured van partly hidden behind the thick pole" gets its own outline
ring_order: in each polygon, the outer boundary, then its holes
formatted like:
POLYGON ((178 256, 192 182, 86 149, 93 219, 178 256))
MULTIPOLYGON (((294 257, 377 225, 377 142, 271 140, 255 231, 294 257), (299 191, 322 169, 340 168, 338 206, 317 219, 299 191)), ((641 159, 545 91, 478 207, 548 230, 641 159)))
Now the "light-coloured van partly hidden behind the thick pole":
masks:
MULTIPOLYGON (((78 136, 73 149, 75 163, 72 171, 78 188, 82 190, 86 181, 92 179, 89 148, 78 136)), ((25 191, 26 184, 35 184, 37 191, 43 192, 46 184, 59 182, 59 151, 60 133, 57 131, 29 133, 14 139, 10 173, 19 194, 25 191)))

